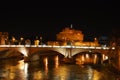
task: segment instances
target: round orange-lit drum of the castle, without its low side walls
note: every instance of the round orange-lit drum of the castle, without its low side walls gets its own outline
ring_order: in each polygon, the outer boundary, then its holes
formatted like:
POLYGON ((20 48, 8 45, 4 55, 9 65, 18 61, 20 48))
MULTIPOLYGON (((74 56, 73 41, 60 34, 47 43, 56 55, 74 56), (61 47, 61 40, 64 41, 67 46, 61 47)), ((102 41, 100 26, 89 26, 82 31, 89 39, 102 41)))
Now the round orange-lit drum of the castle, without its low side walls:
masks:
POLYGON ((57 40, 60 45, 75 45, 75 42, 82 42, 84 34, 80 30, 66 27, 59 34, 57 34, 57 40))

